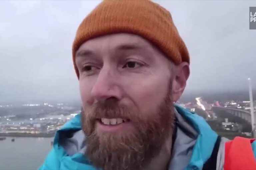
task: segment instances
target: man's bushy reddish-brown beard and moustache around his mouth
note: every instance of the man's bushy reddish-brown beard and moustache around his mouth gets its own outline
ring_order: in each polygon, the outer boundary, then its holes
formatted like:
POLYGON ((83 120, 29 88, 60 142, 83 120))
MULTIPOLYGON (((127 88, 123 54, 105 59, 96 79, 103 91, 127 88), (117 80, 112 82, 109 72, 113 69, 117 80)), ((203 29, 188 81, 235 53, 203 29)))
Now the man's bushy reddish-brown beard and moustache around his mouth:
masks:
POLYGON ((173 104, 168 94, 157 112, 147 115, 120 106, 114 98, 82 112, 82 128, 87 136, 85 155, 104 170, 141 169, 157 156, 174 127, 173 104), (133 123, 131 133, 100 133, 95 129, 99 118, 126 117, 133 123))

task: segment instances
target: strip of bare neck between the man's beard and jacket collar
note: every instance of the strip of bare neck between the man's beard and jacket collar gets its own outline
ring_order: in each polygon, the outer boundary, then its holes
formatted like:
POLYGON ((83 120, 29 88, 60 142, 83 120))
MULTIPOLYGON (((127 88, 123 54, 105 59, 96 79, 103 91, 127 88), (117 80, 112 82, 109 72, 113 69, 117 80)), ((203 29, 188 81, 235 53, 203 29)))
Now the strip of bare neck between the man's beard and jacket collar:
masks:
POLYGON ((167 170, 168 163, 171 159, 172 149, 172 134, 168 136, 163 144, 159 154, 152 158, 149 164, 147 164, 143 170, 167 170))

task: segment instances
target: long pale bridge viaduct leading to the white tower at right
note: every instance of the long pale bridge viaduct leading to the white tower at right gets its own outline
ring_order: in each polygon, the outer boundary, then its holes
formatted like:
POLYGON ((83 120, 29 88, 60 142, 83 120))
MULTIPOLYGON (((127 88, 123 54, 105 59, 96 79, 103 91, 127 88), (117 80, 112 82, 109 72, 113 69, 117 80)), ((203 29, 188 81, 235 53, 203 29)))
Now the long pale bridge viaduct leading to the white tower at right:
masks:
POLYGON ((232 114, 233 116, 241 118, 241 119, 245 120, 247 123, 251 124, 251 113, 247 112, 245 110, 226 108, 226 107, 217 107, 217 106, 212 107, 212 109, 215 111, 219 111, 219 112, 221 112, 221 111, 228 112, 228 113, 232 114))

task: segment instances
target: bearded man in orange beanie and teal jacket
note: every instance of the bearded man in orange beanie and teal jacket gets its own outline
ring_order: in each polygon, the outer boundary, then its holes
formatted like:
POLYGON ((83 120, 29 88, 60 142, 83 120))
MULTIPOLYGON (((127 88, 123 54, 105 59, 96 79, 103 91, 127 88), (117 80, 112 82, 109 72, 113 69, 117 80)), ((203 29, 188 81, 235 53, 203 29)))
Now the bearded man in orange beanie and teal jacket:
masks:
POLYGON ((158 4, 101 2, 77 30, 73 62, 82 112, 57 131, 40 169, 255 169, 253 140, 227 142, 174 105, 189 54, 158 4))

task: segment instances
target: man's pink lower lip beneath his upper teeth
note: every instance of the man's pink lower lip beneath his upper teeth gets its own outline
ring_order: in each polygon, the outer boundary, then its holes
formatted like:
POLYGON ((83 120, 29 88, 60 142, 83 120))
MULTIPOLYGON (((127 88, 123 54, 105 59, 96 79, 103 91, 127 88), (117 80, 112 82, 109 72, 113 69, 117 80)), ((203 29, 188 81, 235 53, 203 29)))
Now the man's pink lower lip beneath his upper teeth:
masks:
POLYGON ((104 125, 102 124, 100 121, 96 121, 96 128, 98 128, 98 130, 100 131, 104 131, 104 132, 114 132, 114 131, 123 131, 123 130, 127 130, 129 128, 132 128, 132 123, 131 122, 125 122, 125 123, 121 123, 118 125, 104 125))

